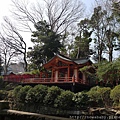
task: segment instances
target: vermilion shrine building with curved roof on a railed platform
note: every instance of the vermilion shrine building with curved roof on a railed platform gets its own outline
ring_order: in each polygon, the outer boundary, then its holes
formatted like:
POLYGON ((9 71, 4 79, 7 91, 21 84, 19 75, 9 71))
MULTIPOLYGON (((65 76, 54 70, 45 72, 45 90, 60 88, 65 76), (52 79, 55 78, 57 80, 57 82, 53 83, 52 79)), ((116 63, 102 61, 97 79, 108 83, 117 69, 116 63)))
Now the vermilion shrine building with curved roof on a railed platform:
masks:
MULTIPOLYGON (((86 75, 80 71, 84 66, 91 66, 92 62, 85 59, 70 59, 66 56, 57 54, 46 64, 43 65, 45 71, 40 72, 39 77, 25 76, 18 77, 21 84, 44 84, 55 85, 63 89, 81 91, 89 89, 90 81, 86 75)), ((13 75, 15 76, 15 75, 13 75)), ((15 81, 17 81, 17 79, 15 81)), ((4 79, 9 81, 8 78, 4 79)), ((14 82, 15 82, 14 81, 14 82)))

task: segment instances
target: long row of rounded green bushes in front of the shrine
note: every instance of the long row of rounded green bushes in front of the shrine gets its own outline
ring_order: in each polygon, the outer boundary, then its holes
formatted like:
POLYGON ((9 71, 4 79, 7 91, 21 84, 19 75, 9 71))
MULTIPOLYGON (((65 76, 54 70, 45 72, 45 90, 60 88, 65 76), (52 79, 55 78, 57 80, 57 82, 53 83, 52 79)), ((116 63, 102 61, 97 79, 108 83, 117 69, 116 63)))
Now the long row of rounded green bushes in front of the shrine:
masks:
POLYGON ((8 100, 12 100, 14 104, 19 104, 19 107, 21 104, 27 104, 28 106, 37 104, 39 106, 55 107, 64 110, 71 108, 108 107, 112 105, 119 106, 120 85, 113 89, 95 86, 89 91, 78 93, 63 90, 57 86, 17 86, 8 95, 8 100))

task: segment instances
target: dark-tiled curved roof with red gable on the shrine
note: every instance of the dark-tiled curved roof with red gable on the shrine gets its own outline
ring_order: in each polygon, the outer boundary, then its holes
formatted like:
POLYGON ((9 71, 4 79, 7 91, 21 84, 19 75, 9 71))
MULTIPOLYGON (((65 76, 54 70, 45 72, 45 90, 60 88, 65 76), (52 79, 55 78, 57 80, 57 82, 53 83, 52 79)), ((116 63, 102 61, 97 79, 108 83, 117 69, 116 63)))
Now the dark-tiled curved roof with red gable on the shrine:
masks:
POLYGON ((81 65, 86 64, 88 62, 92 63, 88 58, 82 58, 82 59, 70 59, 69 57, 66 57, 61 54, 56 54, 52 59, 50 59, 46 64, 43 66, 45 68, 52 67, 52 64, 55 64, 56 60, 66 62, 68 64, 74 64, 74 65, 81 65))

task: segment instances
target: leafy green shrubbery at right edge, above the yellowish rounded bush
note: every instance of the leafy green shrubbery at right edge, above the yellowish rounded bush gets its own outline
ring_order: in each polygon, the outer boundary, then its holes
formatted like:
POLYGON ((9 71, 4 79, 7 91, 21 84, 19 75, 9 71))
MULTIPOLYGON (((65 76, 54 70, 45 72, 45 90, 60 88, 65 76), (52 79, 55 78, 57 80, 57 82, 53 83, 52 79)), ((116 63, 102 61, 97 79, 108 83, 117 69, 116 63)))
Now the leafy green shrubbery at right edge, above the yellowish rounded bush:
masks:
POLYGON ((98 64, 97 76, 99 81, 103 81, 106 84, 118 84, 120 82, 120 59, 98 64))

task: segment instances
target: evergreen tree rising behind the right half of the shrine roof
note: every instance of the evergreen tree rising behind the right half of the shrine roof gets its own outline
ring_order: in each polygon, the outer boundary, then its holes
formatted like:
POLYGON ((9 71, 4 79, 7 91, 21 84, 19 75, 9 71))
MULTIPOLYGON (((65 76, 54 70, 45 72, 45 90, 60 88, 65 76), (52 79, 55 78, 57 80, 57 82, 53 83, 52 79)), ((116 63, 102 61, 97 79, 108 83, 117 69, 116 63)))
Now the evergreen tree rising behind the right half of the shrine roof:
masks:
POLYGON ((91 34, 92 30, 90 30, 89 20, 86 18, 81 20, 78 23, 78 35, 75 37, 74 42, 74 58, 88 57, 90 55, 91 34))

